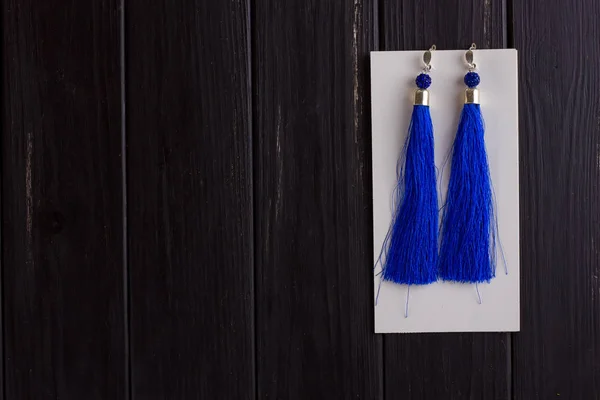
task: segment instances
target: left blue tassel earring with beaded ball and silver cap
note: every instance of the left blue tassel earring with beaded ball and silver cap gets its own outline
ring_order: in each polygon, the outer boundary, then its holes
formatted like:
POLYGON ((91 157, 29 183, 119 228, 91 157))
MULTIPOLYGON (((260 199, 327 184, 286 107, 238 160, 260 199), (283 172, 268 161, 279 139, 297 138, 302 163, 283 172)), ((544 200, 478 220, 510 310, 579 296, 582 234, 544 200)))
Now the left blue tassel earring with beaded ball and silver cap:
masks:
MULTIPOLYGON (((412 119, 399 161, 398 206, 383 244, 379 262, 382 280, 425 285, 437 280, 438 199, 429 113, 432 46, 423 55, 425 68, 417 76, 412 119)), ((410 286, 409 286, 410 288, 410 286)), ((379 295, 379 293, 378 293, 379 295)), ((408 316, 408 291, 405 316, 408 316)))

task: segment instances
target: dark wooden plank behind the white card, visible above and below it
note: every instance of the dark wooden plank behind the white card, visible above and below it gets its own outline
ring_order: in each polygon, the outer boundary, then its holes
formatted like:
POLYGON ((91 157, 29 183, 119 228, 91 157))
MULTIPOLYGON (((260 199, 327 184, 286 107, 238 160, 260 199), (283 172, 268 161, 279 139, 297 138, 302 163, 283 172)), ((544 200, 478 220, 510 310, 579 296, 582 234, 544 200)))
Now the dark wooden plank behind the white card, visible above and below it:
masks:
MULTIPOLYGON (((502 1, 382 1, 382 50, 505 47, 502 1)), ((388 399, 510 397, 506 333, 386 335, 384 344, 388 399)))

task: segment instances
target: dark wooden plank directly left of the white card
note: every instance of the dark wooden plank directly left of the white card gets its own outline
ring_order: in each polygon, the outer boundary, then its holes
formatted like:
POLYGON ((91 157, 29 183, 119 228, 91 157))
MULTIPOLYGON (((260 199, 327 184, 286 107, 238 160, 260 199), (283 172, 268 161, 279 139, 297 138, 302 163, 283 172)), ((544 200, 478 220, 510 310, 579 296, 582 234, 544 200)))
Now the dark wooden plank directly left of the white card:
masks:
POLYGON ((253 4, 258 398, 380 398, 368 284, 374 4, 253 4))

